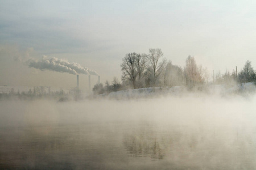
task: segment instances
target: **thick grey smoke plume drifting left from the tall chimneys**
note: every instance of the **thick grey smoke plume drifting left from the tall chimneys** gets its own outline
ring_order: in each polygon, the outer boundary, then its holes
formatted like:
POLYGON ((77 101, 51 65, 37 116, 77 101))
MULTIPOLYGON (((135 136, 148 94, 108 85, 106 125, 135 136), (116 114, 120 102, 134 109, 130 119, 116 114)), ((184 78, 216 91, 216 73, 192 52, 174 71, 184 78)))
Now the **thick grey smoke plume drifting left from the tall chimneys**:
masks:
POLYGON ((30 59, 28 61, 28 66, 34 67, 35 69, 52 70, 61 73, 98 75, 96 71, 83 67, 79 63, 70 63, 66 59, 59 59, 56 57, 48 59, 46 56, 43 56, 41 60, 30 59))

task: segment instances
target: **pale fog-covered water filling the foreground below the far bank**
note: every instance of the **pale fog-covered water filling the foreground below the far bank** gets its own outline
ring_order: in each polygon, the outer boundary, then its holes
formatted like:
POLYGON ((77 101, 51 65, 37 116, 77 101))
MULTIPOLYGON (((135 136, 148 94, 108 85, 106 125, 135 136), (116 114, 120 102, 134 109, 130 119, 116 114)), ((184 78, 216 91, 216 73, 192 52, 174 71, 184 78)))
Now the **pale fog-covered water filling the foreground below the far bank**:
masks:
POLYGON ((255 95, 1 100, 0 167, 254 169, 255 95))

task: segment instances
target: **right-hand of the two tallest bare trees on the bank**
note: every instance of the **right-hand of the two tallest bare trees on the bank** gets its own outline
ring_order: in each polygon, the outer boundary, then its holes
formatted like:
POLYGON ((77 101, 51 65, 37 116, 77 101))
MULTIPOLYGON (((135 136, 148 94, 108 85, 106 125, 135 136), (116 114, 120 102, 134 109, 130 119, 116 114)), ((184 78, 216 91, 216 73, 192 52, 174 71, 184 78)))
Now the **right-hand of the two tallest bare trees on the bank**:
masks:
POLYGON ((150 80, 155 86, 156 80, 158 76, 162 73, 164 65, 166 65, 166 59, 160 61, 163 57, 163 52, 161 49, 149 49, 149 53, 147 54, 147 59, 149 62, 148 71, 150 72, 150 80))

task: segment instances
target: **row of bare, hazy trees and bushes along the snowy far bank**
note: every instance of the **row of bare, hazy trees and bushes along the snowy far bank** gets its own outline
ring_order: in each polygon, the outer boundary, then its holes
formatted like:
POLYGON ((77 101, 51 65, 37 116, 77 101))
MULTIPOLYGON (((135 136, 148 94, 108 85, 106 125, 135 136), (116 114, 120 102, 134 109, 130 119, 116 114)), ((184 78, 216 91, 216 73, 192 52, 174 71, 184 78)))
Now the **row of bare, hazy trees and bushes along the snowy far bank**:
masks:
POLYGON ((256 74, 247 61, 237 74, 226 71, 216 75, 209 74, 206 67, 197 65, 194 57, 188 56, 184 68, 174 65, 163 57, 161 49, 149 49, 148 54, 128 53, 121 63, 122 83, 114 78, 112 84, 96 84, 94 94, 104 94, 112 91, 145 88, 185 86, 188 90, 203 90, 207 84, 234 84, 256 82, 256 74), (212 81, 209 81, 211 79, 212 81))

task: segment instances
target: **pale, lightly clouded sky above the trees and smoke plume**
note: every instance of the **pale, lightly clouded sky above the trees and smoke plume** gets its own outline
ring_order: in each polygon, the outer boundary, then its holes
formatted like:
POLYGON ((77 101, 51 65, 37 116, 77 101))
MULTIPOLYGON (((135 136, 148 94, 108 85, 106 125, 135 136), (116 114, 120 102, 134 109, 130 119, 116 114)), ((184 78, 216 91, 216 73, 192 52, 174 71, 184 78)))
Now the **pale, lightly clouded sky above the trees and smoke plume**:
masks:
POLYGON ((26 65, 42 56, 80 63, 101 82, 121 80, 125 54, 150 48, 181 67, 193 56, 209 73, 240 71, 247 60, 256 69, 256 1, 0 3, 0 86, 76 86, 75 75, 26 65))

